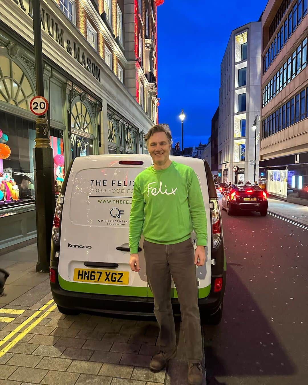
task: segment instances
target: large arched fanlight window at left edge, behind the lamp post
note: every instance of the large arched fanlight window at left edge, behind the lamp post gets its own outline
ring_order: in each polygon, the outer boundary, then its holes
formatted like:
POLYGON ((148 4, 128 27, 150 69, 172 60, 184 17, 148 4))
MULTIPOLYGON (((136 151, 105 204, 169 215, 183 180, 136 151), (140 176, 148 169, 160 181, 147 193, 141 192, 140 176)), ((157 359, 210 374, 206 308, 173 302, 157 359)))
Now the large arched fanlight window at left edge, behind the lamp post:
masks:
POLYGON ((30 111, 30 100, 35 95, 26 74, 12 60, 1 56, 0 100, 30 111))

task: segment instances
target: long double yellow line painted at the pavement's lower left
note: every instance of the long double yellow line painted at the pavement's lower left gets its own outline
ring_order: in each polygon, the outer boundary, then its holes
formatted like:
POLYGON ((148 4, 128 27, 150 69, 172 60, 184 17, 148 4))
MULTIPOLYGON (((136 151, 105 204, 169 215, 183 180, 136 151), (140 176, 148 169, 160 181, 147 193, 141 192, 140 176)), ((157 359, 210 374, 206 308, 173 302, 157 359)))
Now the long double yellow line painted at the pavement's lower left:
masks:
POLYGON ((29 333, 35 326, 37 326, 40 321, 44 320, 44 318, 49 315, 51 311, 53 311, 57 305, 50 306, 54 300, 48 301, 45 305, 39 308, 32 316, 28 317, 27 320, 23 321, 20 325, 17 326, 11 333, 9 333, 7 336, 5 336, 2 340, 0 340, 0 346, 4 345, 10 338, 12 338, 18 331, 22 330, 26 325, 28 325, 29 322, 34 320, 30 326, 28 326, 25 330, 21 331, 18 336, 16 336, 11 342, 9 342, 2 350, 0 350, 0 358, 5 355, 5 353, 8 352, 14 345, 17 344, 18 341, 20 341, 25 335, 29 333), (46 308, 50 308, 45 311, 43 314, 42 311, 44 311, 46 308))

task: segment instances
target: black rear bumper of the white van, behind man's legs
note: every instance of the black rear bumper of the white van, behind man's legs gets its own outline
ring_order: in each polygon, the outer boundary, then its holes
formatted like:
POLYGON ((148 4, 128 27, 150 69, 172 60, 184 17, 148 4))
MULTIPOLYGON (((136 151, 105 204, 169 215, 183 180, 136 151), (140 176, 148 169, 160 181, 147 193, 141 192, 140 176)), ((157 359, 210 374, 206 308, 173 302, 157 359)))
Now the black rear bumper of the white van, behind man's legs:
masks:
MULTIPOLYGON (((214 293, 214 278, 212 278, 211 291, 206 298, 199 298, 200 313, 211 315, 216 313, 223 301, 226 284, 226 271, 223 272, 223 288, 219 293, 214 293)), ((104 295, 80 293, 61 288, 58 275, 56 282, 50 283, 55 303, 63 308, 78 310, 82 313, 102 313, 114 315, 154 315, 154 299, 151 297, 132 297, 118 295, 104 295)), ((180 305, 177 298, 172 298, 174 314, 180 314, 180 305)))

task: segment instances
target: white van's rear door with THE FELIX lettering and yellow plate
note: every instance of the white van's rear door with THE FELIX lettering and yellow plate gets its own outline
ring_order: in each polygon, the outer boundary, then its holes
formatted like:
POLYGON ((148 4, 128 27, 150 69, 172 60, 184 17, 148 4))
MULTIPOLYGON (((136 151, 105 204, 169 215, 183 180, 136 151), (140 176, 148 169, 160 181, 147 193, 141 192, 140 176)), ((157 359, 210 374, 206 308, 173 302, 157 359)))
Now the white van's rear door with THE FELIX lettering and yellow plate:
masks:
POLYGON ((150 159, 99 155, 74 160, 62 211, 59 283, 63 289, 147 296, 143 250, 141 272, 133 273, 129 266, 129 214, 134 179, 151 165, 150 159))

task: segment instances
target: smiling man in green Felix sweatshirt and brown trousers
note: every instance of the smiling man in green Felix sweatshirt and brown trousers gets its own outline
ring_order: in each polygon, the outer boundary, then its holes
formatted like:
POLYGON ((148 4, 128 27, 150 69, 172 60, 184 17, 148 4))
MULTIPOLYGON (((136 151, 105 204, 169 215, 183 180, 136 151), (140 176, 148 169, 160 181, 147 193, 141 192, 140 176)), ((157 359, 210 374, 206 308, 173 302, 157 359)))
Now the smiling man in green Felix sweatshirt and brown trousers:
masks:
POLYGON ((171 306, 171 276, 181 306, 188 382, 202 383, 202 340, 198 307, 196 265, 206 261, 206 213, 196 173, 191 167, 169 159, 171 132, 162 125, 147 133, 147 149, 153 165, 137 175, 129 219, 130 266, 139 272, 138 246, 144 235, 144 256, 149 287, 154 295, 154 313, 159 324, 160 352, 150 363, 162 370, 176 355, 176 333, 171 306), (191 231, 197 235, 194 252, 191 231))

